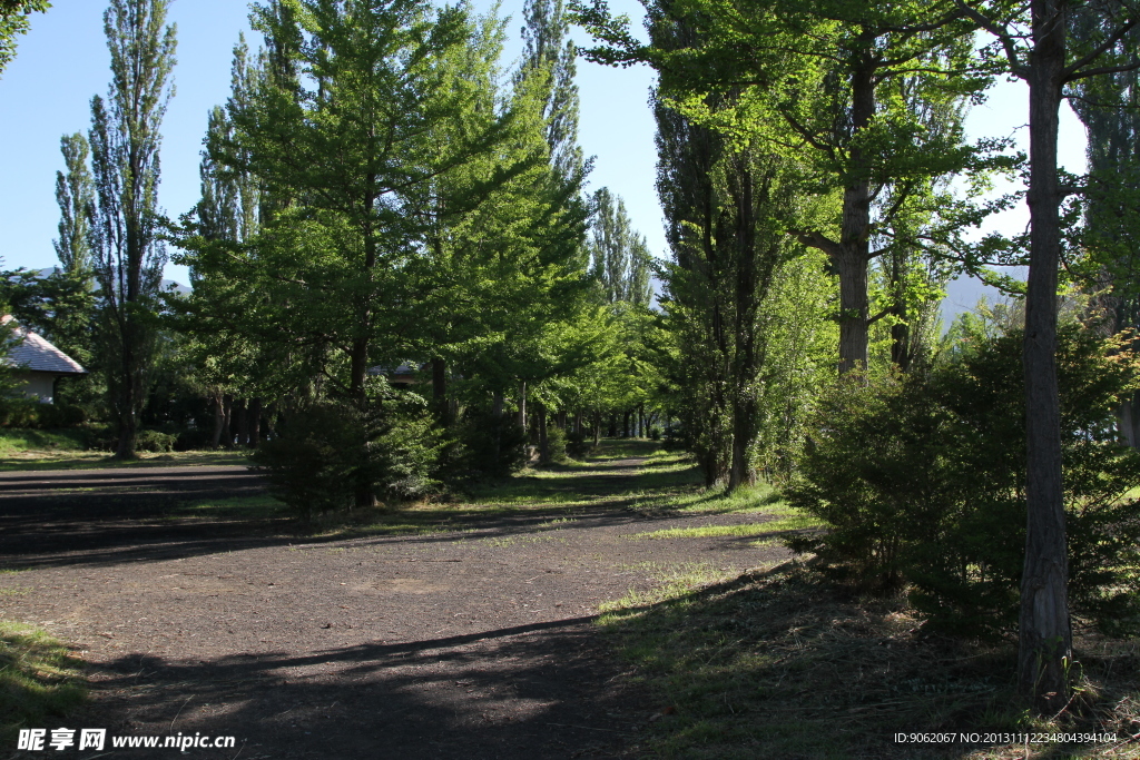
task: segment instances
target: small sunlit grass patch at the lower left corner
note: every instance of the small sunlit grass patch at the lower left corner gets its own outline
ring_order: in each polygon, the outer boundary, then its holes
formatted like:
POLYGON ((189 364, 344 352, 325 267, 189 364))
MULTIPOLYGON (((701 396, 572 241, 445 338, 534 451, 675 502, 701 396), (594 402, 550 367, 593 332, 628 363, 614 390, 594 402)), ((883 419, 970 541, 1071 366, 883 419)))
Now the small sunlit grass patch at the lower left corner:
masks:
POLYGON ((82 662, 43 631, 0 620, 0 745, 21 728, 58 725, 85 698, 82 662))

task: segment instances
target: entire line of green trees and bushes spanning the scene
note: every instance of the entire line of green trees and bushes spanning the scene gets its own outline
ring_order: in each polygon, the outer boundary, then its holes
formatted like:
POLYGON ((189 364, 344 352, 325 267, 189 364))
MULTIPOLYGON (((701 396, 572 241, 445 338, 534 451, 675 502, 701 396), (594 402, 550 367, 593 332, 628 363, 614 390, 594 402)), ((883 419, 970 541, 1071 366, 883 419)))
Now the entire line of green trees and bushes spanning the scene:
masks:
POLYGON ((1070 593, 1081 614, 1130 614, 1121 443, 1140 397, 1132 342, 1112 336, 1140 327, 1140 16, 644 5, 642 39, 604 2, 529 0, 510 71, 504 23, 467 6, 254 5, 260 44, 235 48, 209 115, 202 199, 172 222, 155 195, 166 2, 113 0, 112 88, 63 141, 62 271, 11 275, 9 308, 99 370, 65 397, 113 420, 117 456, 164 417, 255 447, 303 513, 663 436, 708 488, 784 485, 832 526, 799 547, 834 573, 909 585, 934 620, 1005 621, 1023 690, 1056 711, 1070 593), (587 58, 659 75, 667 261, 620 198, 586 190, 571 22, 597 40, 587 58), (966 136, 997 76, 1028 85, 1028 156, 966 136), (1085 178, 1057 167, 1064 98, 1085 178), (988 194, 1018 172, 1024 194, 988 194), (1027 234, 979 231, 1023 202, 1027 234), (187 296, 162 293, 168 245, 187 296), (991 269, 1017 263, 1025 284, 991 269), (942 336, 964 275, 1011 292, 1016 317, 942 336))

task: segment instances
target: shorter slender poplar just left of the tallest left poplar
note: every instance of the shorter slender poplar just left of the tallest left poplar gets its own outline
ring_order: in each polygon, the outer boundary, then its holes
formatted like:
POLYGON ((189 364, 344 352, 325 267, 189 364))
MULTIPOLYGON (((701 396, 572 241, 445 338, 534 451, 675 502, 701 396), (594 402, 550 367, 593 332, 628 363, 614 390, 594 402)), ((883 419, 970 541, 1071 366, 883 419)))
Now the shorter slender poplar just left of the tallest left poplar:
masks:
POLYGON ((56 256, 66 272, 91 270, 91 222, 95 218, 95 181, 88 160, 91 147, 81 132, 59 139, 67 172, 56 172, 56 203, 59 204, 59 237, 52 240, 56 256))

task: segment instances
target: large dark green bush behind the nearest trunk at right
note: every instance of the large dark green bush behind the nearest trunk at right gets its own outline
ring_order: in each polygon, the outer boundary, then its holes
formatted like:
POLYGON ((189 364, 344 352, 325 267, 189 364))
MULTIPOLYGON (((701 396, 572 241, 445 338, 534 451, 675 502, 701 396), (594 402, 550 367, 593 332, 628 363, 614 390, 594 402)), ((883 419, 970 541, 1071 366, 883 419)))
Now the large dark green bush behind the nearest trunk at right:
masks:
MULTIPOLYGON (((849 378, 816 412, 789 502, 830 531, 791 540, 864 588, 906 587, 934 628, 1000 634, 1017 622, 1025 549, 1021 338, 976 341, 927 374, 849 378)), ((1131 354, 1061 330, 1069 596, 1102 628, 1138 618, 1140 455, 1113 410, 1135 382, 1131 354)))

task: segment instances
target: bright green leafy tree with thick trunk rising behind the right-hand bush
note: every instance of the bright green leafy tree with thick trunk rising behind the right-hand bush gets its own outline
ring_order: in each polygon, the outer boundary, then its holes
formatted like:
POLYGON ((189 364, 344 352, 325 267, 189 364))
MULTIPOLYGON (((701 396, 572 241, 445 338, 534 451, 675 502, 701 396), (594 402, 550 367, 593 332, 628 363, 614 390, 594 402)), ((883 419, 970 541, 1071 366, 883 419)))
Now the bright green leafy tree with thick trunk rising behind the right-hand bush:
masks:
MULTIPOLYGON (((868 362, 869 267, 890 246, 872 240, 920 194, 882 203, 888 186, 926 186, 939 177, 1002 165, 993 142, 968 146, 960 128, 928 130, 899 97, 909 79, 923 101, 956 101, 984 89, 971 68, 972 22, 953 1, 865 3, 832 0, 649 2, 650 28, 692 25, 687 39, 642 44, 612 19, 604 2, 576 5, 578 18, 609 47, 587 51, 602 63, 648 63, 676 82, 670 98, 690 119, 730 134, 760 136, 797 156, 820 196, 838 194, 834 215, 787 229, 823 251, 839 276, 839 370, 868 362), (710 92, 741 88, 742 109, 711 113, 710 92)), ((652 33, 651 33, 651 36, 652 33)))

